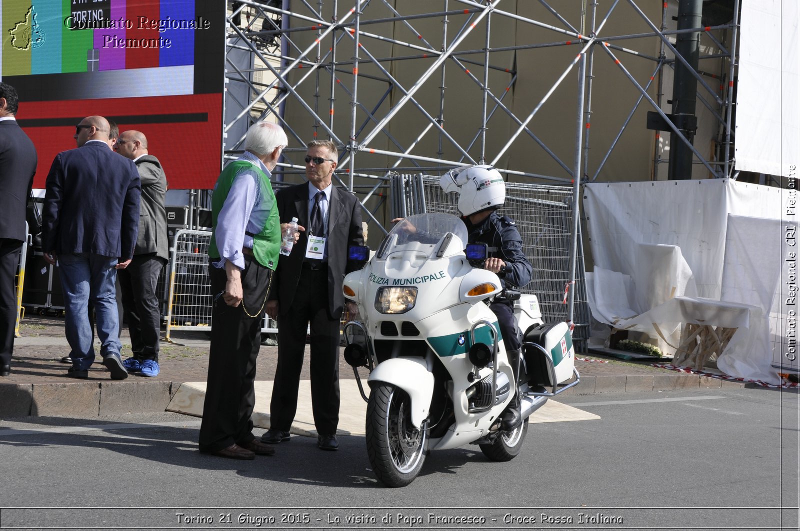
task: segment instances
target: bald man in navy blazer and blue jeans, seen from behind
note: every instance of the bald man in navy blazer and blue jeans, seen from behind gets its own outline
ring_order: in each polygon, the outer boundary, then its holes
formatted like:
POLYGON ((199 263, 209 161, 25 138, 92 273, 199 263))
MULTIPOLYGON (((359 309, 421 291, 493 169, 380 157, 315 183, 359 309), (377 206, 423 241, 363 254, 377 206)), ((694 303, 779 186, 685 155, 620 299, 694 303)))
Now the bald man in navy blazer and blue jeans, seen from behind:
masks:
POLYGON ((109 133, 106 118, 83 118, 75 126, 78 148, 55 156, 45 185, 42 252, 61 270, 72 349, 67 376, 75 378, 88 377, 94 361, 90 299, 103 365, 114 380, 128 376, 120 357, 116 278, 134 256, 141 184, 134 162, 109 147, 109 133))

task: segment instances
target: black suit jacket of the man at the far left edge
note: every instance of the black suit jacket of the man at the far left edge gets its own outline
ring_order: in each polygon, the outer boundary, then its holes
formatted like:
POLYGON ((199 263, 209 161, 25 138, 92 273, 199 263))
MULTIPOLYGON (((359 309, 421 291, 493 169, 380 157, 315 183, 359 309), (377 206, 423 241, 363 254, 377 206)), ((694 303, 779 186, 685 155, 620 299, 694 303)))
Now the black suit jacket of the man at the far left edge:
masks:
POLYGON ((36 162, 34 143, 17 122, 0 122, 0 238, 26 239, 26 205, 36 162))

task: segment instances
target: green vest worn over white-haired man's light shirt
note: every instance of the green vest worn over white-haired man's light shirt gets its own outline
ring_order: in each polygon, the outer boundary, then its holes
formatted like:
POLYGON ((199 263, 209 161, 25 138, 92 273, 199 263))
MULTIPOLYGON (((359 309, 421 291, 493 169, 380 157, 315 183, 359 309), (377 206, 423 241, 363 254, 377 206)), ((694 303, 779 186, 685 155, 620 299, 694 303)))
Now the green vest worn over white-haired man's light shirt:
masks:
POLYGON ((217 218, 219 211, 222 210, 222 205, 225 204, 234 179, 238 174, 242 174, 245 171, 255 171, 258 175, 262 204, 269 210, 264 228, 258 234, 253 235, 253 256, 262 266, 268 269, 275 269, 278 266, 278 254, 281 250, 281 222, 280 218, 278 218, 275 194, 272 191, 270 178, 266 176, 261 168, 247 161, 234 161, 225 166, 222 174, 219 174, 217 184, 214 186, 214 195, 211 197, 211 226, 213 228, 211 242, 208 246, 208 255, 216 260, 221 258, 217 249, 217 218))

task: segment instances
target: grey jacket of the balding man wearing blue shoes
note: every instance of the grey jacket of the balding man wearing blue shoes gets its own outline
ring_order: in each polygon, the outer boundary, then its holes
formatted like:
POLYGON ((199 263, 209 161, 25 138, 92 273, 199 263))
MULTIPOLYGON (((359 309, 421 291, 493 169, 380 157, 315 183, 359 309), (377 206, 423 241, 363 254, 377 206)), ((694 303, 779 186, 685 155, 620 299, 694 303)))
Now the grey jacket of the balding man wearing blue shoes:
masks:
POLYGON ((136 161, 142 182, 142 201, 139 203, 139 234, 134 254, 155 253, 170 259, 170 244, 166 235, 166 174, 161 162, 153 155, 142 155, 136 161))

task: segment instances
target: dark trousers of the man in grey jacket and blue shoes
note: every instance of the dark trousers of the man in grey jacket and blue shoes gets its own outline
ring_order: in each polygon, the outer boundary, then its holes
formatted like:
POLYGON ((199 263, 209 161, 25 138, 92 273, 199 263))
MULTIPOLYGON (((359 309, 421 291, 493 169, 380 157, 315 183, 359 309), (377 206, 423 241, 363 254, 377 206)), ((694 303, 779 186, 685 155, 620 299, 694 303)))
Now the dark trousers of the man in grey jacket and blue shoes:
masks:
POLYGON ((122 311, 130 331, 130 349, 142 361, 158 361, 161 309, 155 289, 164 262, 154 253, 136 254, 125 269, 117 271, 122 311))

